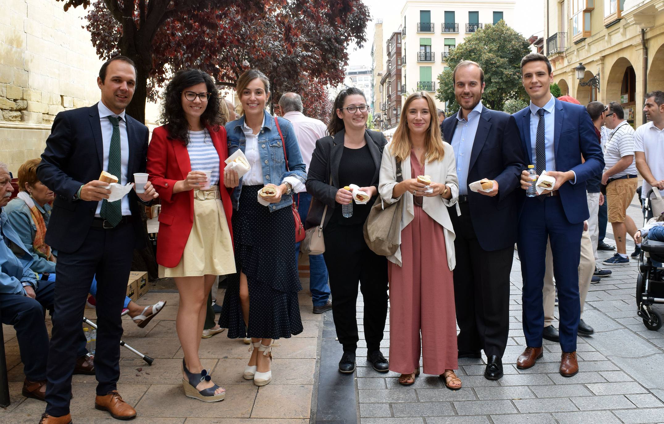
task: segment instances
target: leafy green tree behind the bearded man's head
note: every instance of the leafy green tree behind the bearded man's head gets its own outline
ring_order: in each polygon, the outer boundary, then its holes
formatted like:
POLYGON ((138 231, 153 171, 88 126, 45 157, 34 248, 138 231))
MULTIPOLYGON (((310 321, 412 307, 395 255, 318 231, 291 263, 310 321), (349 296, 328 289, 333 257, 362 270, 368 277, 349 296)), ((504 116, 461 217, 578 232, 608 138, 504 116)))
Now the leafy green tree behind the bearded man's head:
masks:
POLYGON ((501 110, 508 99, 525 100, 526 93, 521 86, 521 58, 530 52, 528 40, 508 27, 505 21, 487 25, 450 51, 446 58, 450 68, 438 75, 436 98, 449 102, 450 111, 459 109, 454 97, 452 70, 462 60, 473 60, 484 70, 486 87, 482 102, 486 107, 501 110))

